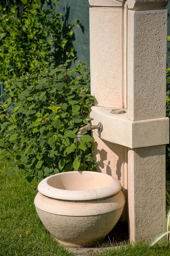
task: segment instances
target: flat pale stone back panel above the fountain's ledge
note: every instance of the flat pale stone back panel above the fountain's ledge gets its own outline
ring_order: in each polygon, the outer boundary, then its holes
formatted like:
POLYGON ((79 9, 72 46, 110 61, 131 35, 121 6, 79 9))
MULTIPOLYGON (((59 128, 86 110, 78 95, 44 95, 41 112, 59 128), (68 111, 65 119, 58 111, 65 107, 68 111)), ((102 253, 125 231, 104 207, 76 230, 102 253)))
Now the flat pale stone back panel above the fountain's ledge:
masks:
POLYGON ((122 108, 121 8, 90 8, 90 56, 95 105, 122 108))

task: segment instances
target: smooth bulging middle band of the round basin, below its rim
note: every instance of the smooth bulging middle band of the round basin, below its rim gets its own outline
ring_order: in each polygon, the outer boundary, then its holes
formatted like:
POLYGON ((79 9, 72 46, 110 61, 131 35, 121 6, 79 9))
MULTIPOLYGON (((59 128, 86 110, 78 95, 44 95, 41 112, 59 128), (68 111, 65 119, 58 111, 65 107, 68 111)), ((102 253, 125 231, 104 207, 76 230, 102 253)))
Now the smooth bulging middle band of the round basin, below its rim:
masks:
POLYGON ((125 197, 120 191, 113 197, 94 201, 65 201, 49 198, 37 193, 34 199, 35 206, 44 211, 66 216, 94 216, 113 212, 125 205, 125 197))

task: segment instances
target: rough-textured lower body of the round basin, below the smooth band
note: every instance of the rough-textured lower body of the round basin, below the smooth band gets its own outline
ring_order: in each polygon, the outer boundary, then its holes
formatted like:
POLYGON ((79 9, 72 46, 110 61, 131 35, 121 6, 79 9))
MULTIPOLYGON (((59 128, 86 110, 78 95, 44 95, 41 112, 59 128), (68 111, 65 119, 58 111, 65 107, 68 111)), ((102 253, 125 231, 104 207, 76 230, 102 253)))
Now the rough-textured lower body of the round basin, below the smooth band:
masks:
POLYGON ((64 245, 93 246, 101 242, 119 220, 123 207, 109 213, 94 216, 62 216, 44 212, 36 207, 47 230, 64 245))

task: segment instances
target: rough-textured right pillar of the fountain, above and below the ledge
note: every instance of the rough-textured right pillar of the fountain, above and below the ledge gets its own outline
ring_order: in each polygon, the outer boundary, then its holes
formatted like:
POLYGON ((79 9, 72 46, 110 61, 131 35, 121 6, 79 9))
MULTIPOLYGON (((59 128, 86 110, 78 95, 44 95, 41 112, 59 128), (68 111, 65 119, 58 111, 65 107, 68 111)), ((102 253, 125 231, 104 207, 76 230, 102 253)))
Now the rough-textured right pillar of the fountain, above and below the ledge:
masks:
MULTIPOLYGON (((133 121, 165 116, 166 4, 127 1, 127 113, 133 121)), ((131 240, 150 241, 165 231, 165 145, 128 149, 128 202, 131 240)))

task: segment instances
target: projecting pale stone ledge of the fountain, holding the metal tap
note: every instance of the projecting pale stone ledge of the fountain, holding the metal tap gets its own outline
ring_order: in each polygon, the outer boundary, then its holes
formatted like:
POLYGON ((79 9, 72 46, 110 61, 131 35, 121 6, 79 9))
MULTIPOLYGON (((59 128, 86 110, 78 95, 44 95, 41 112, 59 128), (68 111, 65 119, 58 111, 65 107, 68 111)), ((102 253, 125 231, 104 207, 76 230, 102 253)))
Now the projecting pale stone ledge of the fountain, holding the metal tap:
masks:
POLYGON ((129 148, 140 148, 169 143, 169 118, 147 119, 135 121, 128 119, 127 113, 111 114, 112 108, 93 106, 90 116, 93 124, 102 122, 103 131, 93 132, 102 140, 124 145, 129 148))

